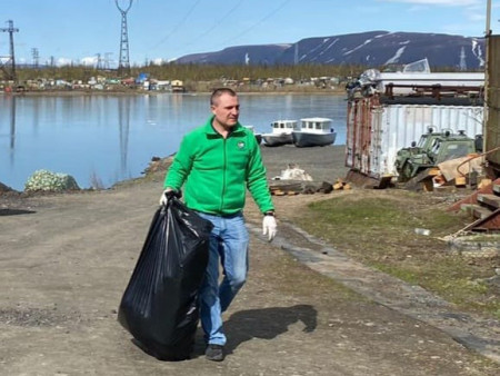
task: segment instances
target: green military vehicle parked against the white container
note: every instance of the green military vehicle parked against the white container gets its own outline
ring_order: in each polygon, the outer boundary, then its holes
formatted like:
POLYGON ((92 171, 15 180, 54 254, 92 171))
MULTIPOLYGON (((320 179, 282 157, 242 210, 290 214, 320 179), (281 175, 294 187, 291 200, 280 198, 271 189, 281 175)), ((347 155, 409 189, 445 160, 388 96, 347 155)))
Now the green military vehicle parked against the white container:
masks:
POLYGON ((476 139, 467 137, 463 131, 452 133, 450 130, 434 132, 433 129, 420 137, 419 144, 398 151, 394 167, 398 181, 404 182, 420 171, 434 167, 446 160, 464 157, 481 151, 482 136, 476 139))

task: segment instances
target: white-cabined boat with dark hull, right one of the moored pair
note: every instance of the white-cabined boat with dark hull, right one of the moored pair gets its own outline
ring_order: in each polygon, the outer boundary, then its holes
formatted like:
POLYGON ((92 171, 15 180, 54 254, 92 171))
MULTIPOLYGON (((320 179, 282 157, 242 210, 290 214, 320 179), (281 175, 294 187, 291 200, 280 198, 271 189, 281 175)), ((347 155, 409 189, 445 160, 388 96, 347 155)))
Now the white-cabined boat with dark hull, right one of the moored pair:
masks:
POLYGON ((300 130, 292 132, 293 145, 299 148, 332 145, 337 137, 332 121, 329 118, 300 119, 300 130))

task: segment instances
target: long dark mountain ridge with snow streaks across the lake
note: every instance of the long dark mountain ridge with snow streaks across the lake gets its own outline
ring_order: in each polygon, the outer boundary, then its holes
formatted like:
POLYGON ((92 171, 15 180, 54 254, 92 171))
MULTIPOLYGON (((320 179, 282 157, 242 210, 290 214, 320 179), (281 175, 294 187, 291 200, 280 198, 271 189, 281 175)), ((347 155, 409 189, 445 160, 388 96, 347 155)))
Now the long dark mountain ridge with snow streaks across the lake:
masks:
POLYGON ((409 63, 427 58, 431 67, 471 70, 484 65, 484 38, 423 32, 367 31, 306 38, 296 43, 237 46, 187 55, 178 63, 364 65, 409 63))

